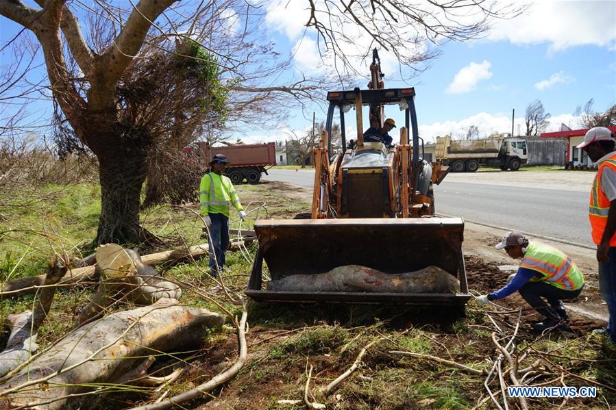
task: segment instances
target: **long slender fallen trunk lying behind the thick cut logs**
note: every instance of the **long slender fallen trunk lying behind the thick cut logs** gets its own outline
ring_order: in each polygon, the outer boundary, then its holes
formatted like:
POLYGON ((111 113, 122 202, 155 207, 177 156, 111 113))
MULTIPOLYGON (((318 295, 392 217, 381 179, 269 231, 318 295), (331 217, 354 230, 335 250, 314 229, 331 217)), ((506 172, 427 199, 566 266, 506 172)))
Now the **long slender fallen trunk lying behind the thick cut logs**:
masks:
MULTIPOLYGON (((255 238, 244 238, 244 242, 252 242, 255 238)), ((231 249, 237 250, 241 242, 232 242, 231 249)), ((188 249, 179 248, 173 251, 164 251, 158 253, 151 253, 150 255, 143 255, 141 258, 144 264, 147 265, 159 265, 165 262, 177 263, 184 259, 197 259, 208 255, 208 244, 201 244, 190 246, 188 249)), ((88 257, 89 258, 89 257, 88 257)), ((88 259, 86 258, 86 259, 88 259)), ((80 260, 86 260, 80 259, 80 260)), ((91 263, 88 260, 84 263, 91 263)), ((60 285, 69 285, 79 282, 97 281, 99 274, 95 270, 95 266, 85 266, 83 268, 75 268, 69 270, 66 277, 60 281, 60 285)), ((26 294, 34 294, 36 290, 42 286, 45 282, 45 275, 41 274, 36 277, 15 279, 14 281, 7 281, 0 283, 0 299, 14 298, 17 296, 23 296, 26 294)))

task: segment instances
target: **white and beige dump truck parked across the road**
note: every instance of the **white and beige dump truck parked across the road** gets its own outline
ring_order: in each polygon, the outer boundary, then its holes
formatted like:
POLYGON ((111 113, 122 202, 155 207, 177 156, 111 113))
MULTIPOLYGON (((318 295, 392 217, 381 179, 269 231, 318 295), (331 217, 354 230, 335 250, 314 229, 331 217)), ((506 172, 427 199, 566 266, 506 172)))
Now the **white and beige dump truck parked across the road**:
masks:
POLYGON ((465 141, 436 137, 435 156, 453 172, 475 172, 482 165, 517 171, 528 162, 526 141, 505 138, 503 134, 465 141))

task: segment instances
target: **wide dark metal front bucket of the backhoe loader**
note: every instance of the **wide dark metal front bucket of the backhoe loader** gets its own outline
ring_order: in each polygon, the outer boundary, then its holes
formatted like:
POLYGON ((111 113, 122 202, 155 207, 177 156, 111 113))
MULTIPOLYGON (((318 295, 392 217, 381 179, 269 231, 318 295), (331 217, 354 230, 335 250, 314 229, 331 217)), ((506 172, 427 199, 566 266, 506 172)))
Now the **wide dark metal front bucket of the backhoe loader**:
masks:
POLYGON ((259 248, 245 293, 271 302, 465 305, 468 292, 462 253, 462 218, 354 218, 258 220, 259 248), (382 272, 412 272, 434 265, 460 281, 460 292, 282 292, 262 288, 263 261, 272 280, 318 274, 345 265, 382 272))

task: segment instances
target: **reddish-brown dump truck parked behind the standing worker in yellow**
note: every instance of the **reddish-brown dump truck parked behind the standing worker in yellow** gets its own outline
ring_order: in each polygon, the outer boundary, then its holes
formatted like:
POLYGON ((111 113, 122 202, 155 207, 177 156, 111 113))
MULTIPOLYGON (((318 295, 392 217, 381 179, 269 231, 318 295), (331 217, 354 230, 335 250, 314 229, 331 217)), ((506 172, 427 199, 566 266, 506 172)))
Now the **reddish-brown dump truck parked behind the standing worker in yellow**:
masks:
POLYGON ((197 142, 195 145, 198 149, 195 150, 193 146, 186 147, 185 155, 196 157, 195 160, 201 164, 205 172, 214 155, 224 154, 231 162, 225 172, 234 184, 243 183, 243 181, 258 183, 262 172, 267 175, 268 168, 266 167, 276 164, 275 142, 226 146, 210 146, 208 142, 197 142))

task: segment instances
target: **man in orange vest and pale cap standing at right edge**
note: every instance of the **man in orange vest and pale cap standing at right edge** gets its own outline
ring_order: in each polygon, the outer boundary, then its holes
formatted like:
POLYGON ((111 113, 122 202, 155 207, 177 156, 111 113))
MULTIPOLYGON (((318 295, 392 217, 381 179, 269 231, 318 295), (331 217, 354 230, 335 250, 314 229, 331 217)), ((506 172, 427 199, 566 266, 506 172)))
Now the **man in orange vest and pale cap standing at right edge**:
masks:
POLYGON ((610 318, 606 329, 597 329, 606 336, 606 347, 616 350, 616 145, 615 133, 606 127, 587 131, 584 142, 577 146, 599 165, 593 181, 589 203, 589 219, 593 242, 597 245, 599 292, 608 307, 610 318))

